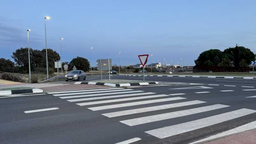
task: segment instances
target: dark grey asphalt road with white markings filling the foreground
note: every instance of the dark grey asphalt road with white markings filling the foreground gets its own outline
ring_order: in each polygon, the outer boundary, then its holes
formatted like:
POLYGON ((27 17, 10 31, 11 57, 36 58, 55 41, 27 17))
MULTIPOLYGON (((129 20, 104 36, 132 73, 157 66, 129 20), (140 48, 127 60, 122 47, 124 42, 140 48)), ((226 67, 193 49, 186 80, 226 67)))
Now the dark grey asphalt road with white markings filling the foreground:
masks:
POLYGON ((160 83, 0 98, 0 143, 190 143, 256 121, 256 80, 146 80, 160 83))

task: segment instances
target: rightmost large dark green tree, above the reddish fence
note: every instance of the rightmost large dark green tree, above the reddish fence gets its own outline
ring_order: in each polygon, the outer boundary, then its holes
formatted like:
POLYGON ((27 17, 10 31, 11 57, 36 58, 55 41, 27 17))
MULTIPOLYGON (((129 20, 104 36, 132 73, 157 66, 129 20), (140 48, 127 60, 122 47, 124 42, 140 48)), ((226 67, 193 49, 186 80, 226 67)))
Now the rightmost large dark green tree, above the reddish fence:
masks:
POLYGON ((237 46, 233 48, 227 48, 223 52, 225 55, 228 56, 228 59, 233 61, 235 67, 239 67, 239 63, 241 60, 245 60, 245 63, 249 64, 250 61, 255 60, 254 53, 243 46, 237 46))

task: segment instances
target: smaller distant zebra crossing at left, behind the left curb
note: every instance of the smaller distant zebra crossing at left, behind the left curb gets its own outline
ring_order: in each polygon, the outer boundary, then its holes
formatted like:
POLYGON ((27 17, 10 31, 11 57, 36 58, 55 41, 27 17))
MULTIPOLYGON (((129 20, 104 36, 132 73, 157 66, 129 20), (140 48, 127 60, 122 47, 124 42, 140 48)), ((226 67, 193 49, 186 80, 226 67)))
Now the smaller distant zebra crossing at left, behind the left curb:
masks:
POLYGON ((8 85, 8 86, 0 86, 0 89, 3 88, 14 88, 14 87, 33 87, 33 88, 42 88, 42 87, 52 87, 52 86, 60 86, 60 85, 68 85, 61 83, 40 83, 40 84, 19 84, 19 85, 8 85))

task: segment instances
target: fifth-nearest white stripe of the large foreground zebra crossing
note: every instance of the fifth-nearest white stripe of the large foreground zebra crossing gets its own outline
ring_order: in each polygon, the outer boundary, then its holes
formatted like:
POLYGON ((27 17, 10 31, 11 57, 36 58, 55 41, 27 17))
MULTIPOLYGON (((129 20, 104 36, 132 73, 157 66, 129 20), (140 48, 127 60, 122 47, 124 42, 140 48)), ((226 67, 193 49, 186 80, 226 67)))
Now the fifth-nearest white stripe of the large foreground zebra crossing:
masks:
POLYGON ((169 96, 169 95, 160 94, 160 95, 150 95, 150 96, 143 96, 143 97, 115 99, 115 100, 101 100, 101 101, 77 103, 77 105, 87 106, 87 105, 95 105, 95 104, 101 104, 101 103, 110 103, 110 102, 127 101, 127 100, 140 100, 140 99, 158 98, 158 97, 166 97, 166 96, 169 96))

